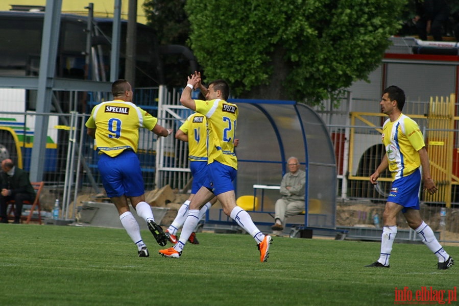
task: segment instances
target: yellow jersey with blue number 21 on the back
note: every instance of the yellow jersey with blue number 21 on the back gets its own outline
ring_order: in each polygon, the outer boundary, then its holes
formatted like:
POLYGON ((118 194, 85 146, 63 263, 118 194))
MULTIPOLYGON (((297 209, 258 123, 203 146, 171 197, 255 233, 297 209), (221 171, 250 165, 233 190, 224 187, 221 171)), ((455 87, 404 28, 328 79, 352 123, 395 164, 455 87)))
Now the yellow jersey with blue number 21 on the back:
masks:
POLYGON ((234 154, 237 106, 222 99, 195 100, 195 104, 196 111, 207 118, 207 163, 218 161, 237 170, 234 154))

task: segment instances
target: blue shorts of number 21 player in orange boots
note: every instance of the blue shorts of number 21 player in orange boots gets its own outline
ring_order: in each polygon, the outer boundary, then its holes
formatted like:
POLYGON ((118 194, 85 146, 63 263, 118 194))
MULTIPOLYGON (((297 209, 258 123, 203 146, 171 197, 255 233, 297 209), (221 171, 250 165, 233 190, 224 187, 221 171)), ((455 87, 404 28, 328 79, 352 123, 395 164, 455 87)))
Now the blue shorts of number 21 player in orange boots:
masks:
POLYGON ((210 188, 214 195, 234 190, 233 181, 236 178, 236 169, 218 161, 213 161, 207 165, 207 171, 210 181, 203 186, 210 188))

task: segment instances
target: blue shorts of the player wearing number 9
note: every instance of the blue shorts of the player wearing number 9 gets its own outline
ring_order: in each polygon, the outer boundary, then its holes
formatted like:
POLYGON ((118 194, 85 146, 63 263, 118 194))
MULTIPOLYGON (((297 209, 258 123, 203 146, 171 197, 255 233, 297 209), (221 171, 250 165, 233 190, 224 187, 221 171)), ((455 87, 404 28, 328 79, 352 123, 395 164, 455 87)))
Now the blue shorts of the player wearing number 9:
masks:
POLYGON ((134 151, 124 150, 116 157, 101 154, 97 165, 108 197, 145 193, 139 158, 134 151))

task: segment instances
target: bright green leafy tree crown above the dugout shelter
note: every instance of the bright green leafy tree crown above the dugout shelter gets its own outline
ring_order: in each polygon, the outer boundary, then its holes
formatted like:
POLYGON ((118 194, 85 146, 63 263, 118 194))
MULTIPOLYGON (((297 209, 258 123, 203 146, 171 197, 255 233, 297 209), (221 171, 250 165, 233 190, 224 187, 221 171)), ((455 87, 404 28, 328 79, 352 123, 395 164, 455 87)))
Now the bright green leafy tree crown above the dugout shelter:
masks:
POLYGON ((238 97, 319 104, 366 80, 406 0, 188 0, 190 47, 238 97))

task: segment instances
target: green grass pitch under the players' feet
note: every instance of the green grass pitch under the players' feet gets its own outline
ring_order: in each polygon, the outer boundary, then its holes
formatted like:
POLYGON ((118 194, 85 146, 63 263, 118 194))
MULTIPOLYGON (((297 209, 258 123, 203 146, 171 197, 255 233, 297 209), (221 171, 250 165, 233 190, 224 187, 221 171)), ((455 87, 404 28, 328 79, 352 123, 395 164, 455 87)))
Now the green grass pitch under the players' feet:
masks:
MULTIPOLYGON (((180 259, 160 257, 148 231, 149 258, 113 228, 0 224, 0 235, 1 305, 373 306, 394 304, 395 288, 459 284, 459 264, 437 270, 423 244, 394 244, 381 269, 364 267, 379 242, 274 237, 261 263, 246 234, 198 233, 180 259)), ((445 249, 459 260, 459 247, 445 249)))

